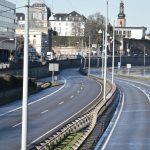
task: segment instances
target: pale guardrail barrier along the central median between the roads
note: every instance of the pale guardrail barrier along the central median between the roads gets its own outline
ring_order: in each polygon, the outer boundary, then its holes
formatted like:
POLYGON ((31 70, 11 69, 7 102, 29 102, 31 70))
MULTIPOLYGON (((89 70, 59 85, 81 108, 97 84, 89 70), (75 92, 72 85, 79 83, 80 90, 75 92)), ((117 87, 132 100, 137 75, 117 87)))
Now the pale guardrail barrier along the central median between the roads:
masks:
MULTIPOLYGON (((91 76, 91 78, 94 78, 98 82, 102 83, 102 80, 96 76, 91 76)), ((67 124, 65 127, 58 130, 58 132, 56 132, 54 135, 45 139, 43 142, 41 142, 32 149, 33 150, 53 149, 55 145, 57 145, 69 134, 75 133, 83 128, 86 128, 81 138, 72 147, 72 150, 78 149, 95 127, 97 117, 104 112, 104 110, 109 106, 109 104, 112 102, 114 98, 116 85, 115 84, 111 85, 110 81, 107 81, 107 84, 109 85, 108 86, 109 88, 107 89, 106 101, 104 101, 103 98, 100 96, 97 97, 96 103, 90 106, 90 108, 86 111, 86 113, 83 116, 77 118, 72 123, 67 124)))

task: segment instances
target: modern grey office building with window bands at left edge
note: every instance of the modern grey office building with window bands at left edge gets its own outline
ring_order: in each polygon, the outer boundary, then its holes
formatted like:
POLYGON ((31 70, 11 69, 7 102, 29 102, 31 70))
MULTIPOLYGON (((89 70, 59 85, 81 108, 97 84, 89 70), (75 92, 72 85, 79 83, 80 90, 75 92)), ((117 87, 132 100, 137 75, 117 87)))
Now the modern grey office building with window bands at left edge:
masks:
POLYGON ((0 1, 0 62, 8 62, 15 50, 16 5, 0 1))

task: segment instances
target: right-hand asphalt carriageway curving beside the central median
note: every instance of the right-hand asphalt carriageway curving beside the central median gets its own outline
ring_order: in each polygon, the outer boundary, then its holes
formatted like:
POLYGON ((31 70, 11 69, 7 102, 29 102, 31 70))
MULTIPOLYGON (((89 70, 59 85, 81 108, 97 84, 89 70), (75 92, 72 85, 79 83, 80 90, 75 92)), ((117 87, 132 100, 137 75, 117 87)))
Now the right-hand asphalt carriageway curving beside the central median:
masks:
POLYGON ((150 84, 116 78, 123 92, 122 109, 102 149, 150 149, 150 84))

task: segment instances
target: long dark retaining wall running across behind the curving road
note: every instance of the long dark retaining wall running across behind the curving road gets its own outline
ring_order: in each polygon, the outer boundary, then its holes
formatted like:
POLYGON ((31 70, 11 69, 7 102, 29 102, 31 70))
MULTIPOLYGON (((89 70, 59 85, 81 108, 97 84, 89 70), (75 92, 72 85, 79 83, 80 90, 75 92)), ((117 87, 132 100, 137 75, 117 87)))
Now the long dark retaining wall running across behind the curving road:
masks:
MULTIPOLYGON (((107 65, 112 65, 112 58, 108 57, 107 65)), ((99 63, 97 62, 97 58, 91 58, 91 67, 97 67, 97 64, 101 66, 102 60, 99 59, 99 63)), ((118 66, 118 62, 120 61, 120 57, 115 57, 115 66, 118 66)), ((81 59, 68 59, 68 60, 60 60, 60 61, 51 61, 50 63, 59 63, 60 70, 67 68, 80 68, 81 67, 81 59)), ((126 66, 127 64, 131 64, 132 66, 143 66, 144 58, 143 57, 121 57, 121 65, 126 66)), ((145 57, 146 66, 150 66, 150 57, 145 57)), ((82 60, 82 67, 84 65, 84 59, 82 60)), ((88 58, 86 60, 86 67, 88 67, 88 58)), ((11 64, 9 68, 0 69, 1 74, 12 74, 12 75, 22 75, 22 63, 11 64)), ((29 77, 33 78, 42 78, 46 76, 51 76, 51 72, 49 72, 49 63, 42 65, 41 63, 31 63, 29 64, 29 77)))

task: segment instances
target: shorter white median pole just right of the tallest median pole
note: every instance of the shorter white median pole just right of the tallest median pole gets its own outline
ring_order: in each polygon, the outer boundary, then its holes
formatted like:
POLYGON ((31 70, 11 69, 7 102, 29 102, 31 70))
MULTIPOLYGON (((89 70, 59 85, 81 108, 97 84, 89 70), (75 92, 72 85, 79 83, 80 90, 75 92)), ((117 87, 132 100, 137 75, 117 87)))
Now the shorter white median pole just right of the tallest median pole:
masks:
POLYGON ((115 59, 115 21, 113 27, 112 84, 114 83, 114 59, 115 59))

